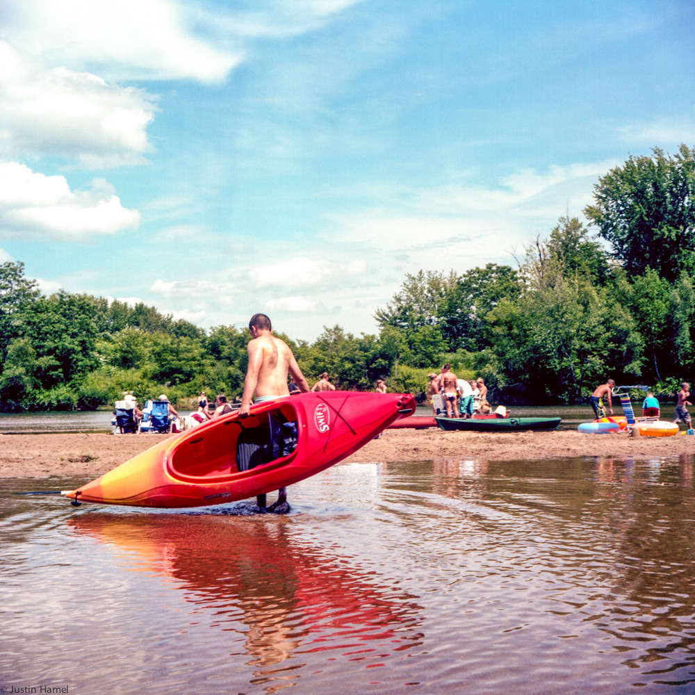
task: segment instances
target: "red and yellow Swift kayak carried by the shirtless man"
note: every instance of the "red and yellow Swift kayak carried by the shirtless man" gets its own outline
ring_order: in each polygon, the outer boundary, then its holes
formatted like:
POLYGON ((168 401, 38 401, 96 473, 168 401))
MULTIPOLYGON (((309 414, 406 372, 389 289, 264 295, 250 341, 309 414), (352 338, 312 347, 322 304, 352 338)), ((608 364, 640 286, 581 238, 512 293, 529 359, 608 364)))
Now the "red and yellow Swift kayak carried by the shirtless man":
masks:
POLYGON ((200 507, 304 480, 413 414, 409 393, 302 393, 210 420, 154 445, 79 489, 78 502, 200 507))

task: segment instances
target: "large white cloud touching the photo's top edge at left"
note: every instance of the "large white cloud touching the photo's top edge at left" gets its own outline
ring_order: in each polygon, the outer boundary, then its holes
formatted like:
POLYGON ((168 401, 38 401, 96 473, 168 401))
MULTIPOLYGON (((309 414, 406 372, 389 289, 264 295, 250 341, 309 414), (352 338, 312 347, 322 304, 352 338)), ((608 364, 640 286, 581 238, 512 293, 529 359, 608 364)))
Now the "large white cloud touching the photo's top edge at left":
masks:
POLYGON ((4 0, 3 13, 0 36, 21 51, 114 79, 219 82, 241 60, 172 0, 4 0))

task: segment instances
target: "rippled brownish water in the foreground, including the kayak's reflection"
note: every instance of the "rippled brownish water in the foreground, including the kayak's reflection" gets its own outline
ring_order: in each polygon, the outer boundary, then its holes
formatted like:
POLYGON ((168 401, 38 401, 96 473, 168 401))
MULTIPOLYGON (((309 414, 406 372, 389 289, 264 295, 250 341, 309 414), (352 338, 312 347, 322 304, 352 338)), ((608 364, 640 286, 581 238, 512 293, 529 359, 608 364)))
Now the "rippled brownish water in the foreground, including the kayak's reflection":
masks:
POLYGON ((692 457, 338 465, 291 488, 288 516, 74 509, 6 481, 0 685, 692 693, 692 474, 692 457))

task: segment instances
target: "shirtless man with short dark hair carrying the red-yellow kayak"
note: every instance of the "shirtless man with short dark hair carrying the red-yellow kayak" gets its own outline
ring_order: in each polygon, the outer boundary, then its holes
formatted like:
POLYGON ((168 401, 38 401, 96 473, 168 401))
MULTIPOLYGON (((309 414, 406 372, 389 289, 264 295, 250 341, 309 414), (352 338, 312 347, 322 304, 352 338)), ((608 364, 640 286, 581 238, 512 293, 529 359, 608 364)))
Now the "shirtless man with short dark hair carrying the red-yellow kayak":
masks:
MULTIPOLYGON (((270 318, 264 313, 256 313, 251 317, 249 330, 252 340, 247 345, 249 366, 244 379, 244 393, 241 396, 240 417, 245 417, 251 409, 251 401, 256 394, 256 403, 277 398, 289 398, 287 386, 288 373, 299 386, 300 391, 309 391, 302 370, 297 364, 292 350, 287 343, 272 335, 270 318)), ((334 387, 335 388, 335 387, 334 387)), ((256 497, 256 502, 265 509, 265 494, 256 497)), ((288 512, 287 495, 284 487, 277 493, 277 502, 268 509, 271 512, 288 512)))

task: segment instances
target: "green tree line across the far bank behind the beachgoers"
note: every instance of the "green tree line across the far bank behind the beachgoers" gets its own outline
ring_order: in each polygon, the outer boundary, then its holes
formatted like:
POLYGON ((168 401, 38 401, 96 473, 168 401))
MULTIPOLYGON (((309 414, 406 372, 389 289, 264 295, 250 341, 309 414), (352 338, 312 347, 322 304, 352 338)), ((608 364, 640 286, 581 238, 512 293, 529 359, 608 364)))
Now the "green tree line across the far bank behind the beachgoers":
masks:
MULTIPOLYGON (((338 388, 423 393, 445 361, 482 375, 491 397, 576 402, 607 377, 671 395, 695 368, 695 149, 630 156, 601 177, 584 208, 562 217, 511 265, 407 275, 375 309, 378 334, 325 327, 293 341, 306 377, 338 388), (592 234, 595 231, 595 234, 592 234)), ((60 291, 49 297, 0 264, 0 409, 95 409, 124 391, 239 395, 245 329, 201 329, 152 306, 60 291)))

